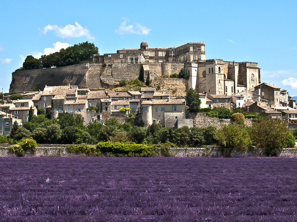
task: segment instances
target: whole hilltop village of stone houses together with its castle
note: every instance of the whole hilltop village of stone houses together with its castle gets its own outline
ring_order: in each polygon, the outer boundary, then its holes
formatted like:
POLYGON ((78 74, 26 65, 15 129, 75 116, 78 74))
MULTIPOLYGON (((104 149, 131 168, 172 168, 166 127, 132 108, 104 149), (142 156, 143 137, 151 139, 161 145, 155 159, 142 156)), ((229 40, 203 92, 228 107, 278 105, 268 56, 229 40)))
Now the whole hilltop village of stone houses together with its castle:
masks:
POLYGON ((59 113, 81 114, 84 125, 113 117, 125 122, 133 114, 144 127, 218 126, 220 121, 209 120, 204 113, 189 113, 185 96, 190 88, 198 93, 201 109, 265 111, 290 128, 297 126, 296 100, 287 90, 261 82, 257 63, 205 60, 204 41, 171 47, 148 47, 143 41, 140 48, 119 49, 82 64, 13 73, 10 93, 0 105, 1 131, 8 135, 14 121, 28 122, 31 108, 34 115, 43 109, 51 119, 59 113), (186 74, 182 78, 181 70, 186 74), (122 80, 135 79, 150 87, 112 90, 122 80), (36 85, 39 91, 31 91, 36 85), (15 93, 22 99, 12 100, 15 93))

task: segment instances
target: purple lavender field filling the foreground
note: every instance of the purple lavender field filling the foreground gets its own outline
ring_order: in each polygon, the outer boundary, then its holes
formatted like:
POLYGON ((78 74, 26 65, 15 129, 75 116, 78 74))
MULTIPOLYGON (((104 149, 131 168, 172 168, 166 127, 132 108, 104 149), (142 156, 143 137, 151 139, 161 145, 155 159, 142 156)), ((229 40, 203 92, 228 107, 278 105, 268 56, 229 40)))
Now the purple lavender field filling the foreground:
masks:
POLYGON ((1 157, 0 221, 293 222, 297 158, 1 157))

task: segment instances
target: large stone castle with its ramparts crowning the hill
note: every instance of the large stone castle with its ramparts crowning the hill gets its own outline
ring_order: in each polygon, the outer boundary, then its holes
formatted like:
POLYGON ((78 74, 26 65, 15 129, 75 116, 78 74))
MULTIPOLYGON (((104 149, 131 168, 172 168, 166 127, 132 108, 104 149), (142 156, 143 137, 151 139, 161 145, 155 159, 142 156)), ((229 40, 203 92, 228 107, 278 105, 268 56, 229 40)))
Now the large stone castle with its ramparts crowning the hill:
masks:
POLYGON ((78 85, 79 88, 110 88, 122 78, 149 78, 153 86, 170 95, 184 96, 189 88, 199 93, 231 96, 261 83, 257 63, 205 60, 205 43, 184 42, 177 46, 119 49, 90 58, 89 63, 12 73, 9 92, 30 91, 34 85, 78 85), (184 68, 189 79, 169 78, 184 68))

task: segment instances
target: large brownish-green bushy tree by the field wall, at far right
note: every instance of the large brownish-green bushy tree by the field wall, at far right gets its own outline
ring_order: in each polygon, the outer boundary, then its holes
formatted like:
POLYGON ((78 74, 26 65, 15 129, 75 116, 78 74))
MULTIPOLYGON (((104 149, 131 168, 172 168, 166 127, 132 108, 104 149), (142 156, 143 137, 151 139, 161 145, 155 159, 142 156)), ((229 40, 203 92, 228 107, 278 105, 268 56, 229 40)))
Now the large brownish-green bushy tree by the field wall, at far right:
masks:
POLYGON ((277 155, 289 133, 288 125, 279 118, 260 117, 252 123, 251 138, 257 147, 265 148, 266 154, 277 155))

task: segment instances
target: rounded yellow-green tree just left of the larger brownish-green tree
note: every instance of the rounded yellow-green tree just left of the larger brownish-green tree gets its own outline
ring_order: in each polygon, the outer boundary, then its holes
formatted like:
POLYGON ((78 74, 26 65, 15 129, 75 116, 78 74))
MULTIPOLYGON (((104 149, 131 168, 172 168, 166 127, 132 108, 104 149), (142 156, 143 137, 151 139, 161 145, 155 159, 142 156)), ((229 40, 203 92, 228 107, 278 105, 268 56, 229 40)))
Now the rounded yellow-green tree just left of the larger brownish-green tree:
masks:
POLYGON ((237 150, 247 150, 250 141, 249 133, 245 127, 236 123, 224 124, 222 129, 217 131, 216 136, 221 145, 230 148, 229 153, 234 148, 237 150))

